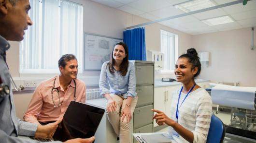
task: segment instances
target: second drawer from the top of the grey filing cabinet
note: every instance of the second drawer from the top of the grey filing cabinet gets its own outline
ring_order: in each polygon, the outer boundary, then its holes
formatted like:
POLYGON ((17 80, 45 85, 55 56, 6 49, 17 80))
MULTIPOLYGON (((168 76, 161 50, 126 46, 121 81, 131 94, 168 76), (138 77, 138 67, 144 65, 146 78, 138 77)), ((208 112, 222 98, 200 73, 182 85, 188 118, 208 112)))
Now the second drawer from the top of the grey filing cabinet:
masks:
POLYGON ((136 107, 153 104, 154 102, 154 86, 153 85, 137 86, 136 93, 139 97, 136 107))

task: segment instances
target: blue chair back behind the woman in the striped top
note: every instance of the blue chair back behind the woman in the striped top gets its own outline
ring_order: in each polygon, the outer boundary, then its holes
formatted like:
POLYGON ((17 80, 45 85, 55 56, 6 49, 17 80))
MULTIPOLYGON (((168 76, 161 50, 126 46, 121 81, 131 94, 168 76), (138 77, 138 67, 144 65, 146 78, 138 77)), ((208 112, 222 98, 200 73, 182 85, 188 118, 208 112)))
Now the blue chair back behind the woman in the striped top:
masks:
POLYGON ((206 143, 222 143, 225 137, 225 132, 223 122, 215 115, 212 115, 206 143))

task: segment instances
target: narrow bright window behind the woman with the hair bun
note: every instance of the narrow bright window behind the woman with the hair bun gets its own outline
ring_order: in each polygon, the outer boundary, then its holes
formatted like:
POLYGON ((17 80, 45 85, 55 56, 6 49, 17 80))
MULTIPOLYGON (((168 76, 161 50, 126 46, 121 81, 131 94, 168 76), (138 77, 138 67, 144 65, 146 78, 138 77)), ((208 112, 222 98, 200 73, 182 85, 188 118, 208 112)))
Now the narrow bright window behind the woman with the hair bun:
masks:
POLYGON ((161 30, 161 52, 164 53, 162 72, 173 71, 178 57, 178 35, 161 30))

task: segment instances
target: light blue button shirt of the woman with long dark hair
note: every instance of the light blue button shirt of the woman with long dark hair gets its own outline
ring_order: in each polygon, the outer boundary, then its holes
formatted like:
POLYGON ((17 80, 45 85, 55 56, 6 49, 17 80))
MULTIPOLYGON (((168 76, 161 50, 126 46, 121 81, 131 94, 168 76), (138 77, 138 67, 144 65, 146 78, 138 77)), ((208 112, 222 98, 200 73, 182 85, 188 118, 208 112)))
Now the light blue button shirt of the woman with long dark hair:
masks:
POLYGON ((136 77, 134 65, 129 62, 128 71, 125 76, 122 76, 120 72, 109 71, 109 61, 103 63, 100 72, 100 95, 106 93, 123 95, 124 98, 128 96, 137 96, 136 90, 136 77), (109 88, 110 87, 110 88, 109 88))

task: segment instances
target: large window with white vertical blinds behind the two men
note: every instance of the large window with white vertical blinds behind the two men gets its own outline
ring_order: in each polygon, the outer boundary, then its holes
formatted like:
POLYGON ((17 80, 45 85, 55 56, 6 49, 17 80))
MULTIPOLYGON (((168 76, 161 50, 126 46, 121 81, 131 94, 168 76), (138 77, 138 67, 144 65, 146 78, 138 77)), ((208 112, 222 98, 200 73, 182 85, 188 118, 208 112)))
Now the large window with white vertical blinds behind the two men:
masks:
POLYGON ((20 73, 58 73, 58 59, 74 54, 83 70, 83 6, 66 0, 30 0, 33 22, 20 43, 20 73))

